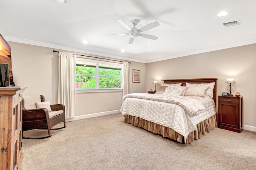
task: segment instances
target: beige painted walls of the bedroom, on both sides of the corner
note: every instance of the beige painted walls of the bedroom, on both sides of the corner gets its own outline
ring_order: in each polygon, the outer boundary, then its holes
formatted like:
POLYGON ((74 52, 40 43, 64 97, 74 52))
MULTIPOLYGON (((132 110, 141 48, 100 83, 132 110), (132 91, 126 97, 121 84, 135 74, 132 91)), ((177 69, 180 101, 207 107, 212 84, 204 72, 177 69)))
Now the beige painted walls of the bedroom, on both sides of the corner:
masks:
MULTIPOLYGON (((46 100, 55 104, 58 88, 58 54, 52 51, 58 49, 8 43, 12 50, 15 84, 28 87, 24 92, 25 96, 43 94, 46 100)), ((161 79, 216 77, 217 94, 221 95, 222 92, 227 92, 226 79, 234 78, 236 84, 232 84, 232 93, 240 92, 244 97, 243 124, 256 127, 256 44, 148 64, 131 62, 129 66, 130 93, 154 89, 154 80, 162 83, 161 79), (132 69, 140 70, 140 83, 132 83, 132 69)), ((117 110, 121 105, 122 92, 76 94, 76 116, 117 110)))

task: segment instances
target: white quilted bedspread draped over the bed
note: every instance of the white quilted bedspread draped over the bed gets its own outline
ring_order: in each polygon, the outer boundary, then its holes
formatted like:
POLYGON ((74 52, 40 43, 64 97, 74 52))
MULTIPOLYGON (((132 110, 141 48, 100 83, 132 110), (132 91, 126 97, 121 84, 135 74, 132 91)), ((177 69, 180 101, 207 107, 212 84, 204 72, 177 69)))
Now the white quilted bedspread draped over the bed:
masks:
POLYGON ((196 124, 216 114, 212 98, 133 93, 123 97, 122 115, 132 115, 180 133, 186 138, 196 124), (198 123, 197 123, 198 122, 198 123))

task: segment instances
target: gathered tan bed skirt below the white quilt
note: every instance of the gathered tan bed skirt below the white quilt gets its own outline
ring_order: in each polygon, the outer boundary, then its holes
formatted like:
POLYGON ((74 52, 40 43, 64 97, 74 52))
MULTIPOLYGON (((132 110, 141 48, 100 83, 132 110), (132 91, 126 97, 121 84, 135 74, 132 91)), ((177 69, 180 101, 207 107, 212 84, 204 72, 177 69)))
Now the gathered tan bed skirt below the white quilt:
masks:
MULTIPOLYGON (((217 127, 216 120, 217 115, 215 114, 212 117, 198 123, 196 125, 198 130, 192 131, 188 135, 186 139, 186 144, 191 143, 191 141, 198 140, 198 138, 200 138, 202 135, 206 135, 206 132, 210 133, 212 129, 217 127)), ((131 115, 124 115, 124 122, 134 125, 135 127, 142 127, 153 133, 161 134, 163 137, 174 139, 180 143, 184 143, 184 137, 180 135, 180 133, 177 133, 169 127, 158 125, 156 123, 146 121, 145 119, 142 119, 140 117, 135 117, 131 115)))

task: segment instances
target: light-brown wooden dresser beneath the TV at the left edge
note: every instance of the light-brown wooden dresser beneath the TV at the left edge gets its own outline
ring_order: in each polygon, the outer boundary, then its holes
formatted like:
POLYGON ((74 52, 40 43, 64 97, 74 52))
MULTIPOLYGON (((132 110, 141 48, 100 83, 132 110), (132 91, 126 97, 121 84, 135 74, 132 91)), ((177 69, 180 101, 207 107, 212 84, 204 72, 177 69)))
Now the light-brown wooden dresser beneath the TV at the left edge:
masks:
POLYGON ((0 169, 19 170, 22 153, 22 92, 24 87, 0 87, 0 169))

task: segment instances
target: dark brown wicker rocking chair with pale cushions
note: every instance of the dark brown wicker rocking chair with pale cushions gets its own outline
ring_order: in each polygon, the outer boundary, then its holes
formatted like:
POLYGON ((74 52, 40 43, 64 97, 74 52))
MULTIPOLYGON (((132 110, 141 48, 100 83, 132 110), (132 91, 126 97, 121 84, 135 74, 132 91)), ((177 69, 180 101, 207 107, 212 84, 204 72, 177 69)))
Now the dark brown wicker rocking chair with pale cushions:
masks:
MULTIPOLYGON (((64 122, 64 127, 66 127, 64 104, 50 105, 52 111, 48 112, 46 108, 36 109, 36 102, 44 102, 44 96, 42 95, 33 96, 32 99, 34 98, 36 98, 36 100, 34 101, 28 100, 27 103, 28 104, 30 103, 31 106, 27 106, 27 107, 26 107, 26 101, 24 101, 24 98, 22 98, 22 112, 23 112, 22 138, 44 139, 52 136, 50 129, 52 129, 52 127, 54 127, 58 123, 64 122), (28 131, 32 129, 48 129, 48 136, 46 137, 24 137, 23 136, 24 131, 28 131)), ((56 129, 62 129, 64 127, 60 127, 56 129)))

